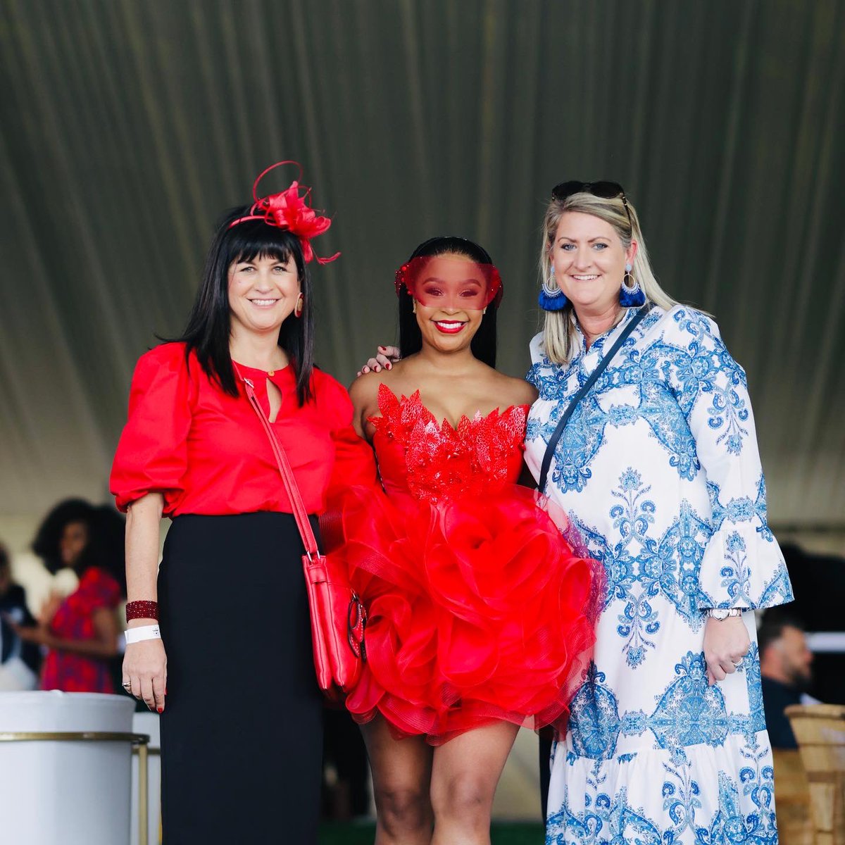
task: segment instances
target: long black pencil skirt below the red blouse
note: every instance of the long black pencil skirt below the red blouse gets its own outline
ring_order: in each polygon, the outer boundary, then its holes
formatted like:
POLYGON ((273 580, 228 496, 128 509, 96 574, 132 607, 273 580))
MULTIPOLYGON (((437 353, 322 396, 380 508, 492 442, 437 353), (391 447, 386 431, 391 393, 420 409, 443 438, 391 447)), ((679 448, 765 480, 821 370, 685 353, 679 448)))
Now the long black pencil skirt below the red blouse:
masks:
POLYGON ((164 845, 317 841, 322 696, 302 553, 290 514, 173 520, 159 573, 164 845))

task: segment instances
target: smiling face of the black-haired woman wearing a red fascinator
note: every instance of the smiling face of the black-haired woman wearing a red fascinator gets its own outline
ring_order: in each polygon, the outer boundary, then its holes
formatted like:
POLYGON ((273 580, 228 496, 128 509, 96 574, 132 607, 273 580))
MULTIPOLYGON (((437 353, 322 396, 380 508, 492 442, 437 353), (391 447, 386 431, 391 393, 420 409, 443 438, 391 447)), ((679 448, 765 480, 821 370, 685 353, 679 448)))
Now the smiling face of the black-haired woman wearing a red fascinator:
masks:
POLYGON ((232 328, 265 334, 278 332, 299 298, 297 265, 272 255, 257 255, 229 266, 229 309, 232 328))

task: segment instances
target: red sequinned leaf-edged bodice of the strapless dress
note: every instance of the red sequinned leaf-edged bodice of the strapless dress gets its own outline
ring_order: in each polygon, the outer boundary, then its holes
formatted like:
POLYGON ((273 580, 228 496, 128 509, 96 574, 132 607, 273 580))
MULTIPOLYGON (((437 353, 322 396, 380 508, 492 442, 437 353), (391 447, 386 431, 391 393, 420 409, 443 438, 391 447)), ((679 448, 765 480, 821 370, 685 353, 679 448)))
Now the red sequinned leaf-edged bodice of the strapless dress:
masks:
POLYGON ((457 428, 438 423, 419 390, 399 398, 379 385, 380 417, 373 448, 384 490, 432 504, 482 495, 520 476, 527 405, 513 405, 486 417, 461 417, 457 428))

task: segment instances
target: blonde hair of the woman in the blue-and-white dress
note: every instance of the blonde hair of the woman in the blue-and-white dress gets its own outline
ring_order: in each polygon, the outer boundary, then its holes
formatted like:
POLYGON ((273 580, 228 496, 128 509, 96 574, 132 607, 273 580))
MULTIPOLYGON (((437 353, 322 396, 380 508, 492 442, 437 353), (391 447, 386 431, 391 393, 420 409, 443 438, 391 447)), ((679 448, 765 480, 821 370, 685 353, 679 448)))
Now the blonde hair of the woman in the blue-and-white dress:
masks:
MULTIPOLYGON (((552 199, 542 221, 542 246, 540 247, 540 278, 542 283, 549 290, 558 289, 558 283, 551 273, 551 248, 554 243, 554 236, 558 231, 560 218, 567 211, 580 211, 581 214, 591 214, 613 226, 613 231, 616 232, 624 249, 630 247, 631 241, 636 241, 637 251, 631 275, 634 276, 635 281, 639 282, 642 291, 646 294, 646 303, 655 303, 662 308, 672 308, 673 305, 677 304, 657 284, 654 270, 651 270, 651 264, 648 260, 648 251, 646 250, 646 242, 642 237, 640 220, 634 206, 630 203, 630 199, 628 200, 628 210, 630 211, 630 226, 621 197, 605 199, 581 192, 580 194, 570 194, 565 199, 552 199)), ((620 284, 621 281, 620 279, 620 284)), ((572 303, 567 303, 560 311, 546 311, 544 313, 542 342, 546 357, 553 363, 566 363, 572 356, 577 337, 575 310, 572 308, 572 303)))

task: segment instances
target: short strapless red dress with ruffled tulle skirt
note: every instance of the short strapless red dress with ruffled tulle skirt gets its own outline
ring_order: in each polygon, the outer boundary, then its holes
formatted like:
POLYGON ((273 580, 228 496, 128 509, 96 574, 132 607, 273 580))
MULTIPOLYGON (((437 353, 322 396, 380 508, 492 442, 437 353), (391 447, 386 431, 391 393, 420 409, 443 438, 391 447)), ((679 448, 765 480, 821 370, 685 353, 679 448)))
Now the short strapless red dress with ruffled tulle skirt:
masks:
POLYGON ((368 608, 367 662, 346 707, 432 744, 496 720, 561 728, 594 640, 597 575, 546 500, 514 483, 528 406, 452 428, 418 392, 382 384, 379 411, 386 495, 346 492, 333 552, 368 608))

